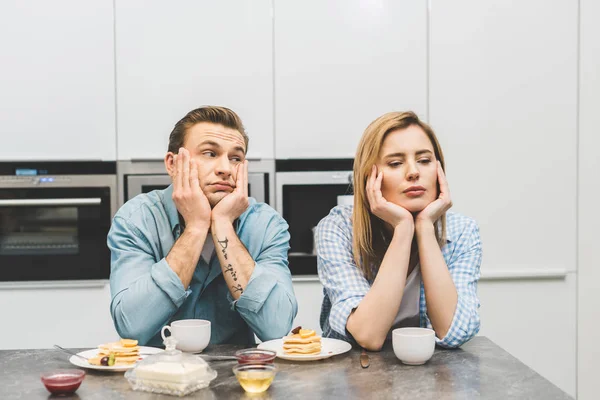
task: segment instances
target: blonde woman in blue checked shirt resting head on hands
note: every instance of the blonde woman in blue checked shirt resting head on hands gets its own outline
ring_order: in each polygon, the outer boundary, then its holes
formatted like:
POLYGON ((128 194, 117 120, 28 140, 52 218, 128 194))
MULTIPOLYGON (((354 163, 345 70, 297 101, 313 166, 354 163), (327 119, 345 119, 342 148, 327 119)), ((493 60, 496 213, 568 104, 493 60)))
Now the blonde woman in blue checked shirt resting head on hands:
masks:
POLYGON ((451 206, 433 130, 412 112, 373 121, 354 160, 354 205, 316 230, 323 336, 379 350, 392 329, 422 326, 454 348, 479 331, 479 229, 451 206))

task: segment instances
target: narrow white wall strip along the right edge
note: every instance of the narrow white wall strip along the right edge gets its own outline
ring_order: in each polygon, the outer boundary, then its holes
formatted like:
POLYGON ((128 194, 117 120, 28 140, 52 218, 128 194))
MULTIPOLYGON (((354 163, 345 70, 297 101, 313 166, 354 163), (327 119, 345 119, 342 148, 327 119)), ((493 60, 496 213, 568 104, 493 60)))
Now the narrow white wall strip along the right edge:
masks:
POLYGON ((600 2, 580 1, 578 398, 598 398, 600 375, 600 2))

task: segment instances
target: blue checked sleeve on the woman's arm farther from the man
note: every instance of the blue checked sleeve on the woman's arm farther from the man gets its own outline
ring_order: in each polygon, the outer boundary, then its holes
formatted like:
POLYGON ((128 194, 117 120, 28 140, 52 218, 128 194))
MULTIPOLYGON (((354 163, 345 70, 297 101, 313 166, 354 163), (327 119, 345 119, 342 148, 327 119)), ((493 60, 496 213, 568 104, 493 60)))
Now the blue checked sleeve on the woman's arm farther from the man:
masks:
MULTIPOLYGON (((477 297, 477 282, 481 269, 481 238, 477 224, 472 221, 463 232, 457 245, 459 253, 448 265, 448 270, 454 281, 458 302, 450 329, 446 336, 436 342, 445 348, 457 348, 479 332, 479 298, 477 297)), ((426 325, 432 328, 431 321, 426 316, 426 325)))

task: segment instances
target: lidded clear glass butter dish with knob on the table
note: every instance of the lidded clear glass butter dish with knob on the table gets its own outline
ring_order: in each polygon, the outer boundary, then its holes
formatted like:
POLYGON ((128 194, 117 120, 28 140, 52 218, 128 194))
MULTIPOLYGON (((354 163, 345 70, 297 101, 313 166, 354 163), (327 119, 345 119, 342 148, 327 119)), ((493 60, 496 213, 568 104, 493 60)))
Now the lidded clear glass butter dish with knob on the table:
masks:
POLYGON ((207 387, 217 377, 203 359, 176 350, 177 340, 169 336, 165 351, 150 355, 125 373, 133 390, 185 396, 207 387))

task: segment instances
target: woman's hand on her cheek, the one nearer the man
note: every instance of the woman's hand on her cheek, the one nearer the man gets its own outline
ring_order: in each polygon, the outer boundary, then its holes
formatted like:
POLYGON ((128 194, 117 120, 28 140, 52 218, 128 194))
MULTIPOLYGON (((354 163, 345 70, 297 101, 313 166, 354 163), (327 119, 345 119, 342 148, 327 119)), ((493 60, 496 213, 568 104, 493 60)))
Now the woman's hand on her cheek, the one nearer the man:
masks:
POLYGON ((405 208, 387 201, 381 193, 381 182, 383 180, 383 172, 377 173, 377 167, 373 166, 371 175, 367 179, 367 200, 371 212, 382 219, 383 221, 396 228, 401 223, 410 224, 414 227, 412 214, 405 208))

